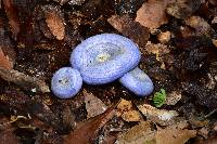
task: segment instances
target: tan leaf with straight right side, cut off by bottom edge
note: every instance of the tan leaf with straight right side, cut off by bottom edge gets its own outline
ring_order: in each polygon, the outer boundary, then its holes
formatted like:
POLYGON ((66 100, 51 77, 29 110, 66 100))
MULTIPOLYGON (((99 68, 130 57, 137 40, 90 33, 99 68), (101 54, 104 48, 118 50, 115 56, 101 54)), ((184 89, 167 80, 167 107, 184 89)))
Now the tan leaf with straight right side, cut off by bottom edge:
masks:
POLYGON ((155 130, 151 129, 150 121, 142 121, 120 134, 116 144, 155 144, 155 130))

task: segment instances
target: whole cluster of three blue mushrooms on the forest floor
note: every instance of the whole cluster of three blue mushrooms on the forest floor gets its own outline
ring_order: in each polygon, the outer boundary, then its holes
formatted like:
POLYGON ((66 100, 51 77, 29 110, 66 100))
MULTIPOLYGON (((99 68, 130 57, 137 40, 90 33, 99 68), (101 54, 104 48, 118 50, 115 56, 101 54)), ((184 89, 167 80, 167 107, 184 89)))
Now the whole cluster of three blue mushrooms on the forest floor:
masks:
POLYGON ((72 67, 59 69, 52 77, 51 90, 60 99, 69 99, 88 84, 119 82, 138 96, 152 93, 154 86, 138 66, 139 48, 116 34, 92 36, 78 44, 71 55, 72 67))

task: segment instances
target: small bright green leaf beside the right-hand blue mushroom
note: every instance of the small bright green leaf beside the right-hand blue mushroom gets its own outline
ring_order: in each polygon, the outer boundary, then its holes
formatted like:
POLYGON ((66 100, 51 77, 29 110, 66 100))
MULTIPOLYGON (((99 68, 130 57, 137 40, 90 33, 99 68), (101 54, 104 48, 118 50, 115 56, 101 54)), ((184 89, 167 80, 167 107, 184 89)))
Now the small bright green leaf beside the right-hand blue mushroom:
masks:
POLYGON ((166 101, 166 92, 164 89, 161 89, 159 92, 155 92, 153 96, 153 103, 156 107, 164 105, 166 101))

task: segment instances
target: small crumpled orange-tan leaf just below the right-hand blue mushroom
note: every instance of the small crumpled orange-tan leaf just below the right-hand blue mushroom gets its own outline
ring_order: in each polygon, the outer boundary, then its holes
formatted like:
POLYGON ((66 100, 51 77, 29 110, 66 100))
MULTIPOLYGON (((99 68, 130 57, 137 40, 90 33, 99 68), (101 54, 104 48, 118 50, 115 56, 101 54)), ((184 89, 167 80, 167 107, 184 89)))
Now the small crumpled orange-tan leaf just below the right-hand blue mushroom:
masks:
POLYGON ((117 116, 120 116, 125 121, 142 121, 141 114, 132 108, 131 101, 120 100, 117 105, 117 116))

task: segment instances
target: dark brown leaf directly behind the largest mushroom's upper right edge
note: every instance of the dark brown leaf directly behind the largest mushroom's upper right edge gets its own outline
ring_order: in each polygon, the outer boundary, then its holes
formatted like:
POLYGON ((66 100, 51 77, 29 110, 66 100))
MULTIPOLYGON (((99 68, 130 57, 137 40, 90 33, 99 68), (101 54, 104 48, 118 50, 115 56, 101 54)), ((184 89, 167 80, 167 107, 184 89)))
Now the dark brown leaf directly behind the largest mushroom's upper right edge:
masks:
POLYGON ((113 15, 107 22, 119 32, 132 39, 140 48, 144 48, 149 39, 149 29, 127 15, 113 15))

